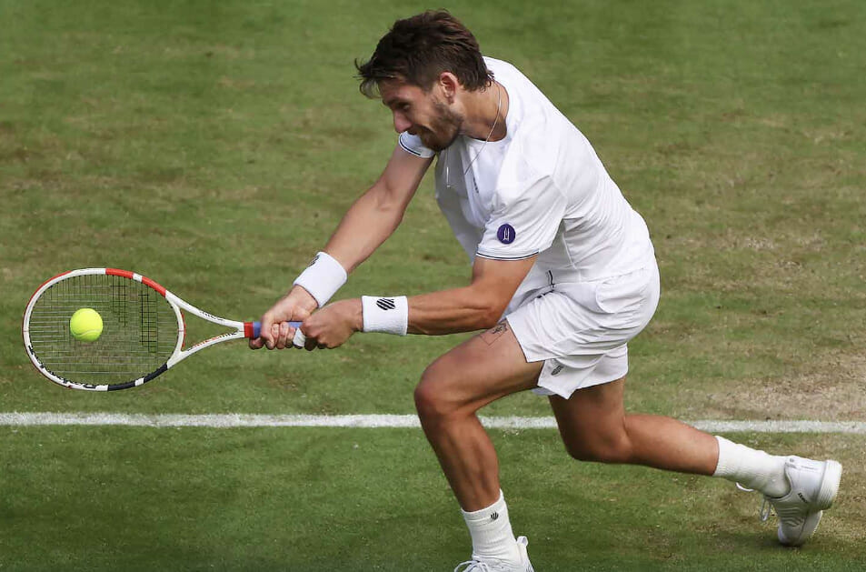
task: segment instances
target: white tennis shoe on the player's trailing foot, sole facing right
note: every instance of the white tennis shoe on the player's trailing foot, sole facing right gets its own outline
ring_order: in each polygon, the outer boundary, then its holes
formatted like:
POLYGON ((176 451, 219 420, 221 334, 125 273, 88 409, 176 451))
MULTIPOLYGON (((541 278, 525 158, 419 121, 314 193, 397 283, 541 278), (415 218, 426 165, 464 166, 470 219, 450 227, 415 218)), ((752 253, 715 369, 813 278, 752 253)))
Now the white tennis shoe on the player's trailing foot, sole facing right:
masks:
POLYGON ((788 457, 785 477, 791 490, 784 497, 765 495, 761 520, 770 517, 770 510, 764 509, 769 503, 779 517, 779 542, 788 547, 801 546, 815 533, 823 511, 833 504, 841 474, 842 466, 836 461, 788 457))

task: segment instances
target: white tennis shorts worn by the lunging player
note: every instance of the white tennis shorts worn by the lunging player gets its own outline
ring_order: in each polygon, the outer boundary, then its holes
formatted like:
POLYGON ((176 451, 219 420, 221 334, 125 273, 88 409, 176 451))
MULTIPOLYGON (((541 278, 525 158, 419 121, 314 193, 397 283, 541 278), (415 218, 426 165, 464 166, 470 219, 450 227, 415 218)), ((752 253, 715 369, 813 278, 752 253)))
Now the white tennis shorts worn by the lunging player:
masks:
POLYGON ((592 282, 556 284, 505 316, 528 362, 543 361, 540 395, 564 398, 629 370, 628 342, 659 304, 659 268, 592 282))

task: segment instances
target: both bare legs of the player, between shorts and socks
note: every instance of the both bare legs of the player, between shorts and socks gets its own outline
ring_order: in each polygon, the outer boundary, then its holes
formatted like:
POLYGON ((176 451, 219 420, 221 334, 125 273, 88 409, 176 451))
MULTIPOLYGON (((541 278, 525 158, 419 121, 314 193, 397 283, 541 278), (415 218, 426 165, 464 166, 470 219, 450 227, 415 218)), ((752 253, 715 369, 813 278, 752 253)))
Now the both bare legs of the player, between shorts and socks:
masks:
MULTIPOLYGON (((526 363, 507 323, 457 346, 427 368, 415 390, 424 433, 466 511, 499 498, 499 462, 475 412, 536 384, 542 363, 526 363)), ((715 437, 665 416, 625 415, 624 378, 551 397, 572 457, 712 475, 715 437)))

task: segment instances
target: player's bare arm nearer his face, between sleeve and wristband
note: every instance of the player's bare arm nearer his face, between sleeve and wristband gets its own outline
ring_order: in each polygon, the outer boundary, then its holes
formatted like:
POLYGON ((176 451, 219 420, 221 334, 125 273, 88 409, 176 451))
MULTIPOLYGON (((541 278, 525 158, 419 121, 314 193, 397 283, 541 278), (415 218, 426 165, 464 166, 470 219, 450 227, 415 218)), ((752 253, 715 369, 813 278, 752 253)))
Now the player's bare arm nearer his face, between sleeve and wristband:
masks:
POLYGON ((400 225, 432 162, 397 146, 382 176, 349 208, 324 251, 352 272, 400 225))

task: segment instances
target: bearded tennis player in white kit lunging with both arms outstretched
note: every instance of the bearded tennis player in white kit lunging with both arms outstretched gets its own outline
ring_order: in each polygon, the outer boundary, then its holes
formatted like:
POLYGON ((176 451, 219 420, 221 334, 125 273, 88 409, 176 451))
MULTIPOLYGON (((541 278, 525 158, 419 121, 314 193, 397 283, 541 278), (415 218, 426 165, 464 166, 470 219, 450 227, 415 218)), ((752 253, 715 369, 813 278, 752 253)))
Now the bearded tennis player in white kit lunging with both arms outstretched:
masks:
POLYGON ((739 482, 775 508, 782 544, 811 537, 839 487, 836 461, 774 457, 670 417, 625 414, 627 343, 658 304, 658 267, 642 217, 568 118, 513 65, 483 57, 443 11, 395 22, 358 70, 362 92, 391 110, 398 144, 324 251, 264 314, 251 346, 486 329, 434 361, 415 389, 472 537, 472 559, 458 568, 533 569, 475 415, 526 389, 549 396, 572 457, 739 482), (473 261, 471 283, 325 306, 400 224, 434 156, 436 198, 473 261), (303 334, 290 320, 304 322, 303 334))

